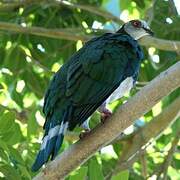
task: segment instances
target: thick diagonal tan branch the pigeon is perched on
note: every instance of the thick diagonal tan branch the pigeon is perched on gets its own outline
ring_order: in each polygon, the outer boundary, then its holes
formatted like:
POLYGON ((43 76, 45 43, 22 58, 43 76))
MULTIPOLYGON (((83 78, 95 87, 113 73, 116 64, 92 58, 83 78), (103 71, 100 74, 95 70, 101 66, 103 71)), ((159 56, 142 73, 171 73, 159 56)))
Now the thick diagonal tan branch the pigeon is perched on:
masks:
POLYGON ((164 96, 180 86, 180 62, 161 73, 142 88, 104 124, 97 126, 84 139, 78 141, 50 162, 34 180, 63 179, 83 164, 96 151, 114 140, 137 118, 147 113, 164 96))

